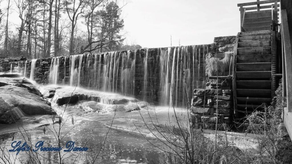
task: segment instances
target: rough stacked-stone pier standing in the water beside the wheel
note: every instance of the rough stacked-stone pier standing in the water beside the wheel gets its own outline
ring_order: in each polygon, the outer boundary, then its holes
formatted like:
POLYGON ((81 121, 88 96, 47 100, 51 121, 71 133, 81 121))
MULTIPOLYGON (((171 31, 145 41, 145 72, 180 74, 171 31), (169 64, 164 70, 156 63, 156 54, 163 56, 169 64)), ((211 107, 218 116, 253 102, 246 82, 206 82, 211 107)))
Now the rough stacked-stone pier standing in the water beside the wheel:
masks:
POLYGON ((191 104, 192 123, 215 130, 218 121, 218 129, 227 130, 230 128, 233 114, 231 78, 222 79, 222 82, 218 83, 218 97, 215 88, 216 86, 211 86, 211 88, 194 90, 191 104))

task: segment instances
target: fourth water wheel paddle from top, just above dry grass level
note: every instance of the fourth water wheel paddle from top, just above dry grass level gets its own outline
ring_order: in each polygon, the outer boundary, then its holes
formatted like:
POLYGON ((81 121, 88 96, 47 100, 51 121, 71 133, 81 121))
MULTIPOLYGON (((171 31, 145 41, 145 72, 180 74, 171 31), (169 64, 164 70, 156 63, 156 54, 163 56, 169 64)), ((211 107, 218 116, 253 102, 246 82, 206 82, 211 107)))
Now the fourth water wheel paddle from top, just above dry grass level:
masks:
POLYGON ((237 55, 272 54, 272 47, 237 48, 237 55))

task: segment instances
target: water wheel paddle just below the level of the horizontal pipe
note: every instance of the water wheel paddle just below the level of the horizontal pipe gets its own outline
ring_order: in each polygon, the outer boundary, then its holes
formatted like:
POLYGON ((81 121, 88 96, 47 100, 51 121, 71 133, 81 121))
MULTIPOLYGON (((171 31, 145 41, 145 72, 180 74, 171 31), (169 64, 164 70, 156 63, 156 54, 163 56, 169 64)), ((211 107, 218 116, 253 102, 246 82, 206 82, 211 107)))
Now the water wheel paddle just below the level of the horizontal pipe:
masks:
POLYGON ((236 81, 237 89, 271 89, 271 80, 239 80, 236 81))

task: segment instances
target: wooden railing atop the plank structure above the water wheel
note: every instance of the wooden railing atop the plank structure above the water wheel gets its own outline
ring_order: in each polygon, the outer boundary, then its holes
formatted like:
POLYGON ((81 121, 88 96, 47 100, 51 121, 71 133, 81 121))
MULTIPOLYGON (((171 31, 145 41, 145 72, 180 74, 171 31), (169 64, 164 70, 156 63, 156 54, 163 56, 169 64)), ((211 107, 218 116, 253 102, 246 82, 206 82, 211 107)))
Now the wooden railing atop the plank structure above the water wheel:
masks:
POLYGON ((243 26, 244 26, 244 22, 245 22, 244 20, 245 20, 246 14, 254 14, 254 13, 259 13, 261 11, 269 11, 269 10, 266 10, 268 8, 271 8, 271 11, 272 11, 271 20, 277 20, 276 22, 279 22, 278 8, 280 7, 280 5, 278 4, 278 2, 280 2, 280 0, 268 0, 268 1, 257 0, 256 2, 237 4, 237 6, 240 7, 239 11, 240 11, 241 31, 245 31, 243 26), (262 4, 270 4, 270 5, 261 6, 262 4), (252 5, 257 5, 257 6, 254 7, 252 5), (251 6, 251 7, 245 7, 245 6, 251 6), (252 11, 252 10, 256 10, 256 11, 252 11), (274 12, 275 12, 275 15, 274 15, 274 12))

